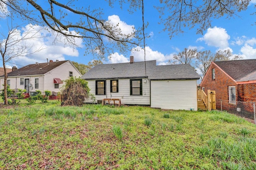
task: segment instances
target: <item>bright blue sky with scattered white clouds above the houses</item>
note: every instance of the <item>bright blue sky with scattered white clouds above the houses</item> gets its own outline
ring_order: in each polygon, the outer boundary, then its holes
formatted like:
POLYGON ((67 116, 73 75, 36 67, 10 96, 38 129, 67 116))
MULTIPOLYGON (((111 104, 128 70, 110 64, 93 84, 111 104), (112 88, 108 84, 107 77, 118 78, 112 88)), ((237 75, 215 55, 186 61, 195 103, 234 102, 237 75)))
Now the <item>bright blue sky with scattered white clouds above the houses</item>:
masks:
MULTIPOLYGON (((41 3, 43 3, 42 1, 41 3)), ((78 1, 79 6, 88 6, 86 1, 78 1)), ((90 8, 102 8, 104 12, 103 18, 109 20, 113 24, 120 24, 120 28, 126 32, 130 30, 132 26, 139 28, 142 26, 142 12, 140 9, 130 14, 126 10, 115 4, 114 8, 108 6, 108 2, 97 0, 98 3, 90 4, 90 8)), ((160 22, 159 13, 154 8, 158 5, 156 0, 147 0, 144 2, 144 19, 148 22, 146 28, 146 34, 150 35, 146 38, 146 60, 156 59, 158 65, 165 65, 169 59, 172 59, 174 54, 177 54, 184 50, 184 48, 198 49, 198 51, 211 50, 215 53, 218 50, 230 49, 233 54, 242 55, 243 59, 256 59, 256 26, 252 25, 256 22, 255 15, 250 15, 256 11, 254 5, 256 0, 253 0, 248 6, 248 10, 238 13, 231 19, 220 18, 218 20, 212 20, 212 28, 208 28, 203 32, 203 35, 196 34, 196 28, 189 30, 184 28, 184 34, 169 38, 168 32, 163 32, 164 26, 158 24, 160 22)), ((32 8, 32 7, 31 7, 32 8)), ((70 17, 71 14, 70 14, 70 17)), ((8 18, 0 19, 0 32, 7 34, 7 21, 8 18)), ((29 28, 28 23, 21 23, 20 20, 14 20, 14 24, 23 24, 23 28, 20 28, 20 36, 29 28)), ((42 30, 41 34, 49 34, 46 30, 42 30)), ((12 59, 11 63, 7 63, 8 67, 16 65, 18 68, 35 63, 46 62, 46 58, 52 60, 71 60, 78 63, 87 64, 92 59, 97 59, 91 54, 84 55, 84 48, 81 40, 76 40, 79 47, 73 49, 72 47, 65 45, 65 40, 61 39, 60 42, 52 44, 54 36, 42 38, 40 40, 34 40, 33 45, 43 47, 38 53, 27 57, 16 57, 12 59)), ((32 40, 31 40, 32 41, 32 40)), ((104 63, 122 63, 128 62, 129 56, 133 55, 135 61, 144 61, 144 51, 141 47, 136 47, 137 50, 128 49, 126 53, 114 52, 111 55, 111 59, 106 57, 104 63)), ((2 63, 0 64, 2 67, 2 63)))

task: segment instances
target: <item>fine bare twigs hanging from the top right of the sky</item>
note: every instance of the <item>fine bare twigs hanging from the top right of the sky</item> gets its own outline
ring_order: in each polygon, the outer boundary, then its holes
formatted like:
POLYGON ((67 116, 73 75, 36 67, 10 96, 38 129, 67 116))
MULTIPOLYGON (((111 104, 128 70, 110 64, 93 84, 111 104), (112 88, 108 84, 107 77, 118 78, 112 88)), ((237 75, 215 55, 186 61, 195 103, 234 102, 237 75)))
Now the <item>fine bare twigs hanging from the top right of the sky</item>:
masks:
POLYGON ((211 27, 212 19, 231 18, 246 10, 251 0, 160 0, 160 12, 164 30, 170 38, 183 33, 183 28, 197 27, 197 33, 211 27))

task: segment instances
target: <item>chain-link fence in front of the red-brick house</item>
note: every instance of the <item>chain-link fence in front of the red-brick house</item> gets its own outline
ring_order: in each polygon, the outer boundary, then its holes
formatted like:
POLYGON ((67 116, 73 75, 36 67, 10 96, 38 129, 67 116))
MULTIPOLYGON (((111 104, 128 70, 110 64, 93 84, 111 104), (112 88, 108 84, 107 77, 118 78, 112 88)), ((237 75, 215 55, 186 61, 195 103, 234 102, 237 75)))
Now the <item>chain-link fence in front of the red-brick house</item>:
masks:
POLYGON ((228 101, 216 99, 216 109, 249 119, 256 124, 255 102, 228 101))

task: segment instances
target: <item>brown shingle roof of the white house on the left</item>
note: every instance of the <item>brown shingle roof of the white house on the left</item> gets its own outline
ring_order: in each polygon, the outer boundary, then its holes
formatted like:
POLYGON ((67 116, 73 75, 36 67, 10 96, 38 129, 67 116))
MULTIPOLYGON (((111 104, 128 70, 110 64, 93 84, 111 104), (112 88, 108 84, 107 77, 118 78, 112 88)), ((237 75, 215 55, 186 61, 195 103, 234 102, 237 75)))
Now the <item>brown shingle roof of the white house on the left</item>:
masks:
MULTIPOLYGON (((51 71, 52 69, 55 69, 56 67, 68 61, 69 60, 26 65, 20 69, 17 69, 8 73, 8 77, 26 76, 26 75, 44 75, 45 73, 51 71)), ((0 77, 3 77, 3 76, 0 76, 0 77)))

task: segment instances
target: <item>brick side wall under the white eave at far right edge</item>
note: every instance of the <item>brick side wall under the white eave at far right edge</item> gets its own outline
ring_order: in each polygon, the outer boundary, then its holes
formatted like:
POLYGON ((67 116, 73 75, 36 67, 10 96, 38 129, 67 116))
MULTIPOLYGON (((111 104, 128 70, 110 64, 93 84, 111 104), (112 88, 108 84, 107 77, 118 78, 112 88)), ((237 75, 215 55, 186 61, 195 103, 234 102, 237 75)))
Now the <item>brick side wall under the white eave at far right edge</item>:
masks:
POLYGON ((238 101, 256 102, 256 83, 237 85, 236 91, 238 101))

